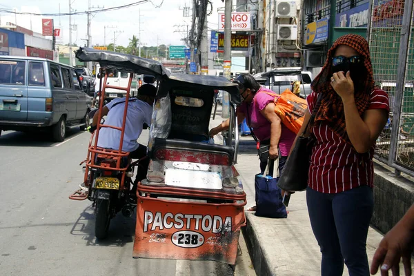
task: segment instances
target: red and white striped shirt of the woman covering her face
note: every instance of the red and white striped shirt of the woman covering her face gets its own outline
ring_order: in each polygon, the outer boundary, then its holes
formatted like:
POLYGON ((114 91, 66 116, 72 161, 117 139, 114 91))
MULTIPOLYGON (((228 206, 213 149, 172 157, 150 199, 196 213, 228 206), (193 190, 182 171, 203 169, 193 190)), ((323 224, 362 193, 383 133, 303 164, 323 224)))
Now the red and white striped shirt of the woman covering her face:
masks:
MULTIPOLYGON (((317 95, 306 99, 312 114, 317 95)), ((388 95, 384 90, 371 92, 368 109, 389 110, 388 95)), ((375 146, 364 154, 358 153, 324 122, 313 128, 317 142, 312 150, 308 186, 321 193, 340 193, 357 186, 373 187, 373 155, 375 146)))

